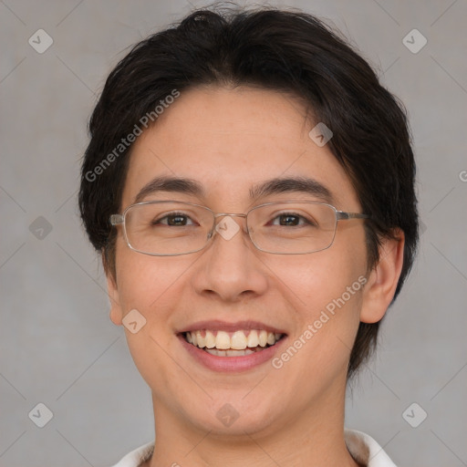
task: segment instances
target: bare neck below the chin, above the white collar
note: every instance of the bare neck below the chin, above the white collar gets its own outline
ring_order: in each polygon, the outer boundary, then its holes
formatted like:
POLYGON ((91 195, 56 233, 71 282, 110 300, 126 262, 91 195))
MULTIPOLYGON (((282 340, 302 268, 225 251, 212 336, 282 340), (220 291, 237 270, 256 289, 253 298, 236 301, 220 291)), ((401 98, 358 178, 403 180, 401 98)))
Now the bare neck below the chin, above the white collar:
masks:
POLYGON ((187 423, 153 396, 157 436, 152 458, 144 467, 264 467, 272 463, 358 467, 344 440, 344 400, 345 386, 343 393, 327 393, 308 410, 286 414, 261 430, 224 434, 187 423))

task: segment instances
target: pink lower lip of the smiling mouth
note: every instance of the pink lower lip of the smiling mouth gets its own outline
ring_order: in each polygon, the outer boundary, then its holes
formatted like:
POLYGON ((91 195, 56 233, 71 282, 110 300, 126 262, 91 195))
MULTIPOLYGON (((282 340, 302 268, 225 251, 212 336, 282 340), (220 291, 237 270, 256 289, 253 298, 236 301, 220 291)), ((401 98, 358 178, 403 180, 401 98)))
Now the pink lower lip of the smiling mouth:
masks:
POLYGON ((179 335, 182 346, 190 352, 193 358, 199 361, 204 367, 214 371, 244 371, 255 368, 267 360, 274 357, 285 341, 285 337, 278 340, 274 346, 258 350, 254 354, 243 355, 241 357, 218 357, 188 343, 182 335, 179 335))

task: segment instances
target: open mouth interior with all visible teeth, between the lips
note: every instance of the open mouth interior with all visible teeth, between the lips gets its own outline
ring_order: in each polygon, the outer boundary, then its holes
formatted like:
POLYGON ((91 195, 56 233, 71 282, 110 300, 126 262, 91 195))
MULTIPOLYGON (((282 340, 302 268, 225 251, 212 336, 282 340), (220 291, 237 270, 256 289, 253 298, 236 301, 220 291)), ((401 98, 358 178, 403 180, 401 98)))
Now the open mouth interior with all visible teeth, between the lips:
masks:
POLYGON ((245 357, 274 347, 284 339, 284 333, 266 329, 238 329, 232 332, 197 329, 182 333, 184 340, 194 348, 221 358, 245 357))

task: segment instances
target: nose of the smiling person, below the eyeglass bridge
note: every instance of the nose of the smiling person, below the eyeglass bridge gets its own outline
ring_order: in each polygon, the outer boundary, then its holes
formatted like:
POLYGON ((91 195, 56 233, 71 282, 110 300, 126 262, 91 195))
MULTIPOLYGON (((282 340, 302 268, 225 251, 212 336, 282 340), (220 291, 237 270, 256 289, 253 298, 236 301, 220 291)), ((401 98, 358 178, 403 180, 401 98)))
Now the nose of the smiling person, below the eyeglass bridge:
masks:
POLYGON ((242 217, 223 216, 216 223, 213 238, 192 275, 198 294, 237 302, 265 293, 267 268, 250 241, 242 217))

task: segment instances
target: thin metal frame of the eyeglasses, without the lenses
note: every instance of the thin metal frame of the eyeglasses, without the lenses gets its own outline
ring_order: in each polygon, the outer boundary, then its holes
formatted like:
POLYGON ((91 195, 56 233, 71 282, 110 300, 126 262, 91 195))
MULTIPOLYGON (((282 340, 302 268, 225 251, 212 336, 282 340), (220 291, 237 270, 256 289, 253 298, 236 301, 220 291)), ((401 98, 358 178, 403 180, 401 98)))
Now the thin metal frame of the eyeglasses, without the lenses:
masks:
POLYGON ((346 211, 339 211, 339 210, 337 210, 337 208, 335 206, 333 206, 332 204, 328 204, 327 202, 314 202, 314 201, 303 201, 303 200, 295 200, 295 201, 292 200, 292 201, 285 201, 285 202, 265 202, 263 204, 259 204, 257 206, 254 206, 253 208, 251 208, 246 213, 214 213, 211 208, 208 208, 207 206, 203 206, 202 204, 196 204, 194 202, 182 202, 182 201, 176 201, 176 200, 163 200, 163 201, 135 202, 134 204, 130 204, 130 206, 127 206, 125 208, 123 213, 121 213, 121 214, 111 214, 110 217, 109 217, 109 223, 113 227, 117 227, 118 225, 123 225, 123 233, 124 233, 125 241, 126 241, 127 245, 129 246, 130 250, 133 250, 136 253, 148 254, 149 256, 182 256, 183 254, 192 254, 192 253, 198 253, 198 252, 202 251, 210 243, 211 239, 214 236, 214 231, 215 231, 215 228, 216 228, 215 220, 218 217, 226 217, 226 216, 229 216, 229 217, 244 217, 245 223, 246 223, 246 233, 248 233, 248 237, 249 237, 251 243, 254 245, 254 248, 256 248, 260 252, 268 253, 268 254, 313 254, 313 253, 317 253, 317 252, 327 250, 328 248, 330 248, 334 244, 334 240, 336 238, 336 233, 337 233, 337 223, 339 221, 348 221, 350 219, 371 219, 371 215, 369 215, 369 214, 348 213, 346 211), (130 240, 128 238, 128 233, 127 233, 127 226, 126 226, 126 223, 125 223, 126 214, 128 213, 128 211, 134 206, 141 206, 141 205, 145 205, 145 204, 158 204, 158 203, 161 203, 161 202, 178 202, 178 203, 181 203, 181 204, 188 204, 190 206, 196 206, 196 207, 203 208, 203 209, 213 213, 213 221, 214 221, 213 222, 213 227, 211 229, 211 232, 208 233, 206 243, 201 248, 198 248, 197 250, 192 250, 192 251, 186 252, 186 253, 146 253, 146 252, 143 252, 141 250, 138 250, 138 249, 134 248, 130 244, 130 240), (266 251, 266 250, 263 250, 263 249, 259 248, 256 244, 254 244, 252 234, 250 233, 250 230, 248 229, 248 214, 251 213, 252 211, 254 211, 255 209, 258 209, 258 208, 261 208, 261 207, 264 207, 264 206, 270 206, 272 204, 295 203, 295 202, 301 202, 301 203, 306 203, 306 204, 324 205, 324 206, 327 206, 327 207, 331 208, 334 211, 334 213, 336 215, 336 223, 335 223, 335 226, 334 226, 334 233, 333 233, 331 243, 328 244, 327 247, 325 247, 325 248, 320 248, 319 250, 315 250, 315 251, 312 251, 312 252, 305 252, 305 253, 269 252, 269 251, 266 251))

